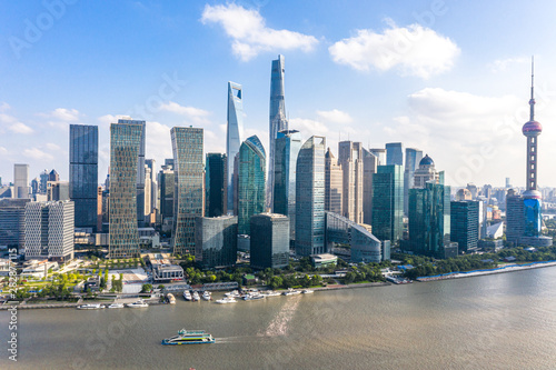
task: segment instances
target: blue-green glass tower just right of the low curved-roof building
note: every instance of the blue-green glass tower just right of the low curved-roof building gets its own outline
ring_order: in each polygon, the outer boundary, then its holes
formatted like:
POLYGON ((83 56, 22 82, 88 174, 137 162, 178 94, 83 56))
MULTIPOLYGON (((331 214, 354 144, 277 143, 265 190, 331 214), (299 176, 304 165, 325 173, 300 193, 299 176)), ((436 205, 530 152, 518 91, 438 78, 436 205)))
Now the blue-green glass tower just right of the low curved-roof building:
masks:
POLYGON ((373 174, 373 234, 393 243, 404 233, 404 176, 401 166, 378 166, 373 174))

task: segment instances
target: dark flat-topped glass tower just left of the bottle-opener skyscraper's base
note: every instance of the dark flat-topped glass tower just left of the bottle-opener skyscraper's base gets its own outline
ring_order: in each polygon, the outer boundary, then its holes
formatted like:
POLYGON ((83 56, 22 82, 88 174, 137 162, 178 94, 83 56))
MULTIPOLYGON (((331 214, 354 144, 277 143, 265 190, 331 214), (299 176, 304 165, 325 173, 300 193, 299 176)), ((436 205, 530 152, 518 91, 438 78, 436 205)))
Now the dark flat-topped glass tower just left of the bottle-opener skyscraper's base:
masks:
POLYGON ((228 211, 228 168, 226 154, 208 153, 205 167, 207 217, 219 217, 228 211))

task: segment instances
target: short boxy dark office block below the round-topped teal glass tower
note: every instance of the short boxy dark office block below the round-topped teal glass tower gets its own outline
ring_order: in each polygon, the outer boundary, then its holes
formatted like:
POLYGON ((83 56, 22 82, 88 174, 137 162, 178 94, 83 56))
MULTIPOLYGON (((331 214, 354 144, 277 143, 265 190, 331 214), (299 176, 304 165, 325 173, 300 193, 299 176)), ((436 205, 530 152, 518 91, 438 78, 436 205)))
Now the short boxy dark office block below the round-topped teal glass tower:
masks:
POLYGON ((278 213, 251 217, 250 264, 255 269, 281 269, 289 263, 289 219, 278 213))

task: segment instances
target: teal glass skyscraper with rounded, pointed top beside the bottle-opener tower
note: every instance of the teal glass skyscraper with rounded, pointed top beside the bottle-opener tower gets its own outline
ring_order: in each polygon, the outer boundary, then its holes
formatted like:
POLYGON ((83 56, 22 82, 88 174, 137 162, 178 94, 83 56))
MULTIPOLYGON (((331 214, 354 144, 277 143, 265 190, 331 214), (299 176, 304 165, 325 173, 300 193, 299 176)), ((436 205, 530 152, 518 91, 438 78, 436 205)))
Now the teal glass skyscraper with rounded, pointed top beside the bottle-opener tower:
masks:
POLYGON ((250 233, 251 216, 265 212, 266 153, 257 136, 239 148, 238 233, 250 233))

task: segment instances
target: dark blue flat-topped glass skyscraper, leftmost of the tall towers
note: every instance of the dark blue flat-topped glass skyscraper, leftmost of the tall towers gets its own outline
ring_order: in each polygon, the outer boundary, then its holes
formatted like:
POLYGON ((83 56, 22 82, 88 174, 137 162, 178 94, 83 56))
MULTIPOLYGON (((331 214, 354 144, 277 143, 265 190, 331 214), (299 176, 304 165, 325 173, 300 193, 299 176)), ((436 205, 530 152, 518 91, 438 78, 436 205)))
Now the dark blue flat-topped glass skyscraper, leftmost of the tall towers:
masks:
POLYGON ((97 126, 70 124, 69 198, 75 203, 76 228, 96 229, 97 226, 98 129, 97 126))

